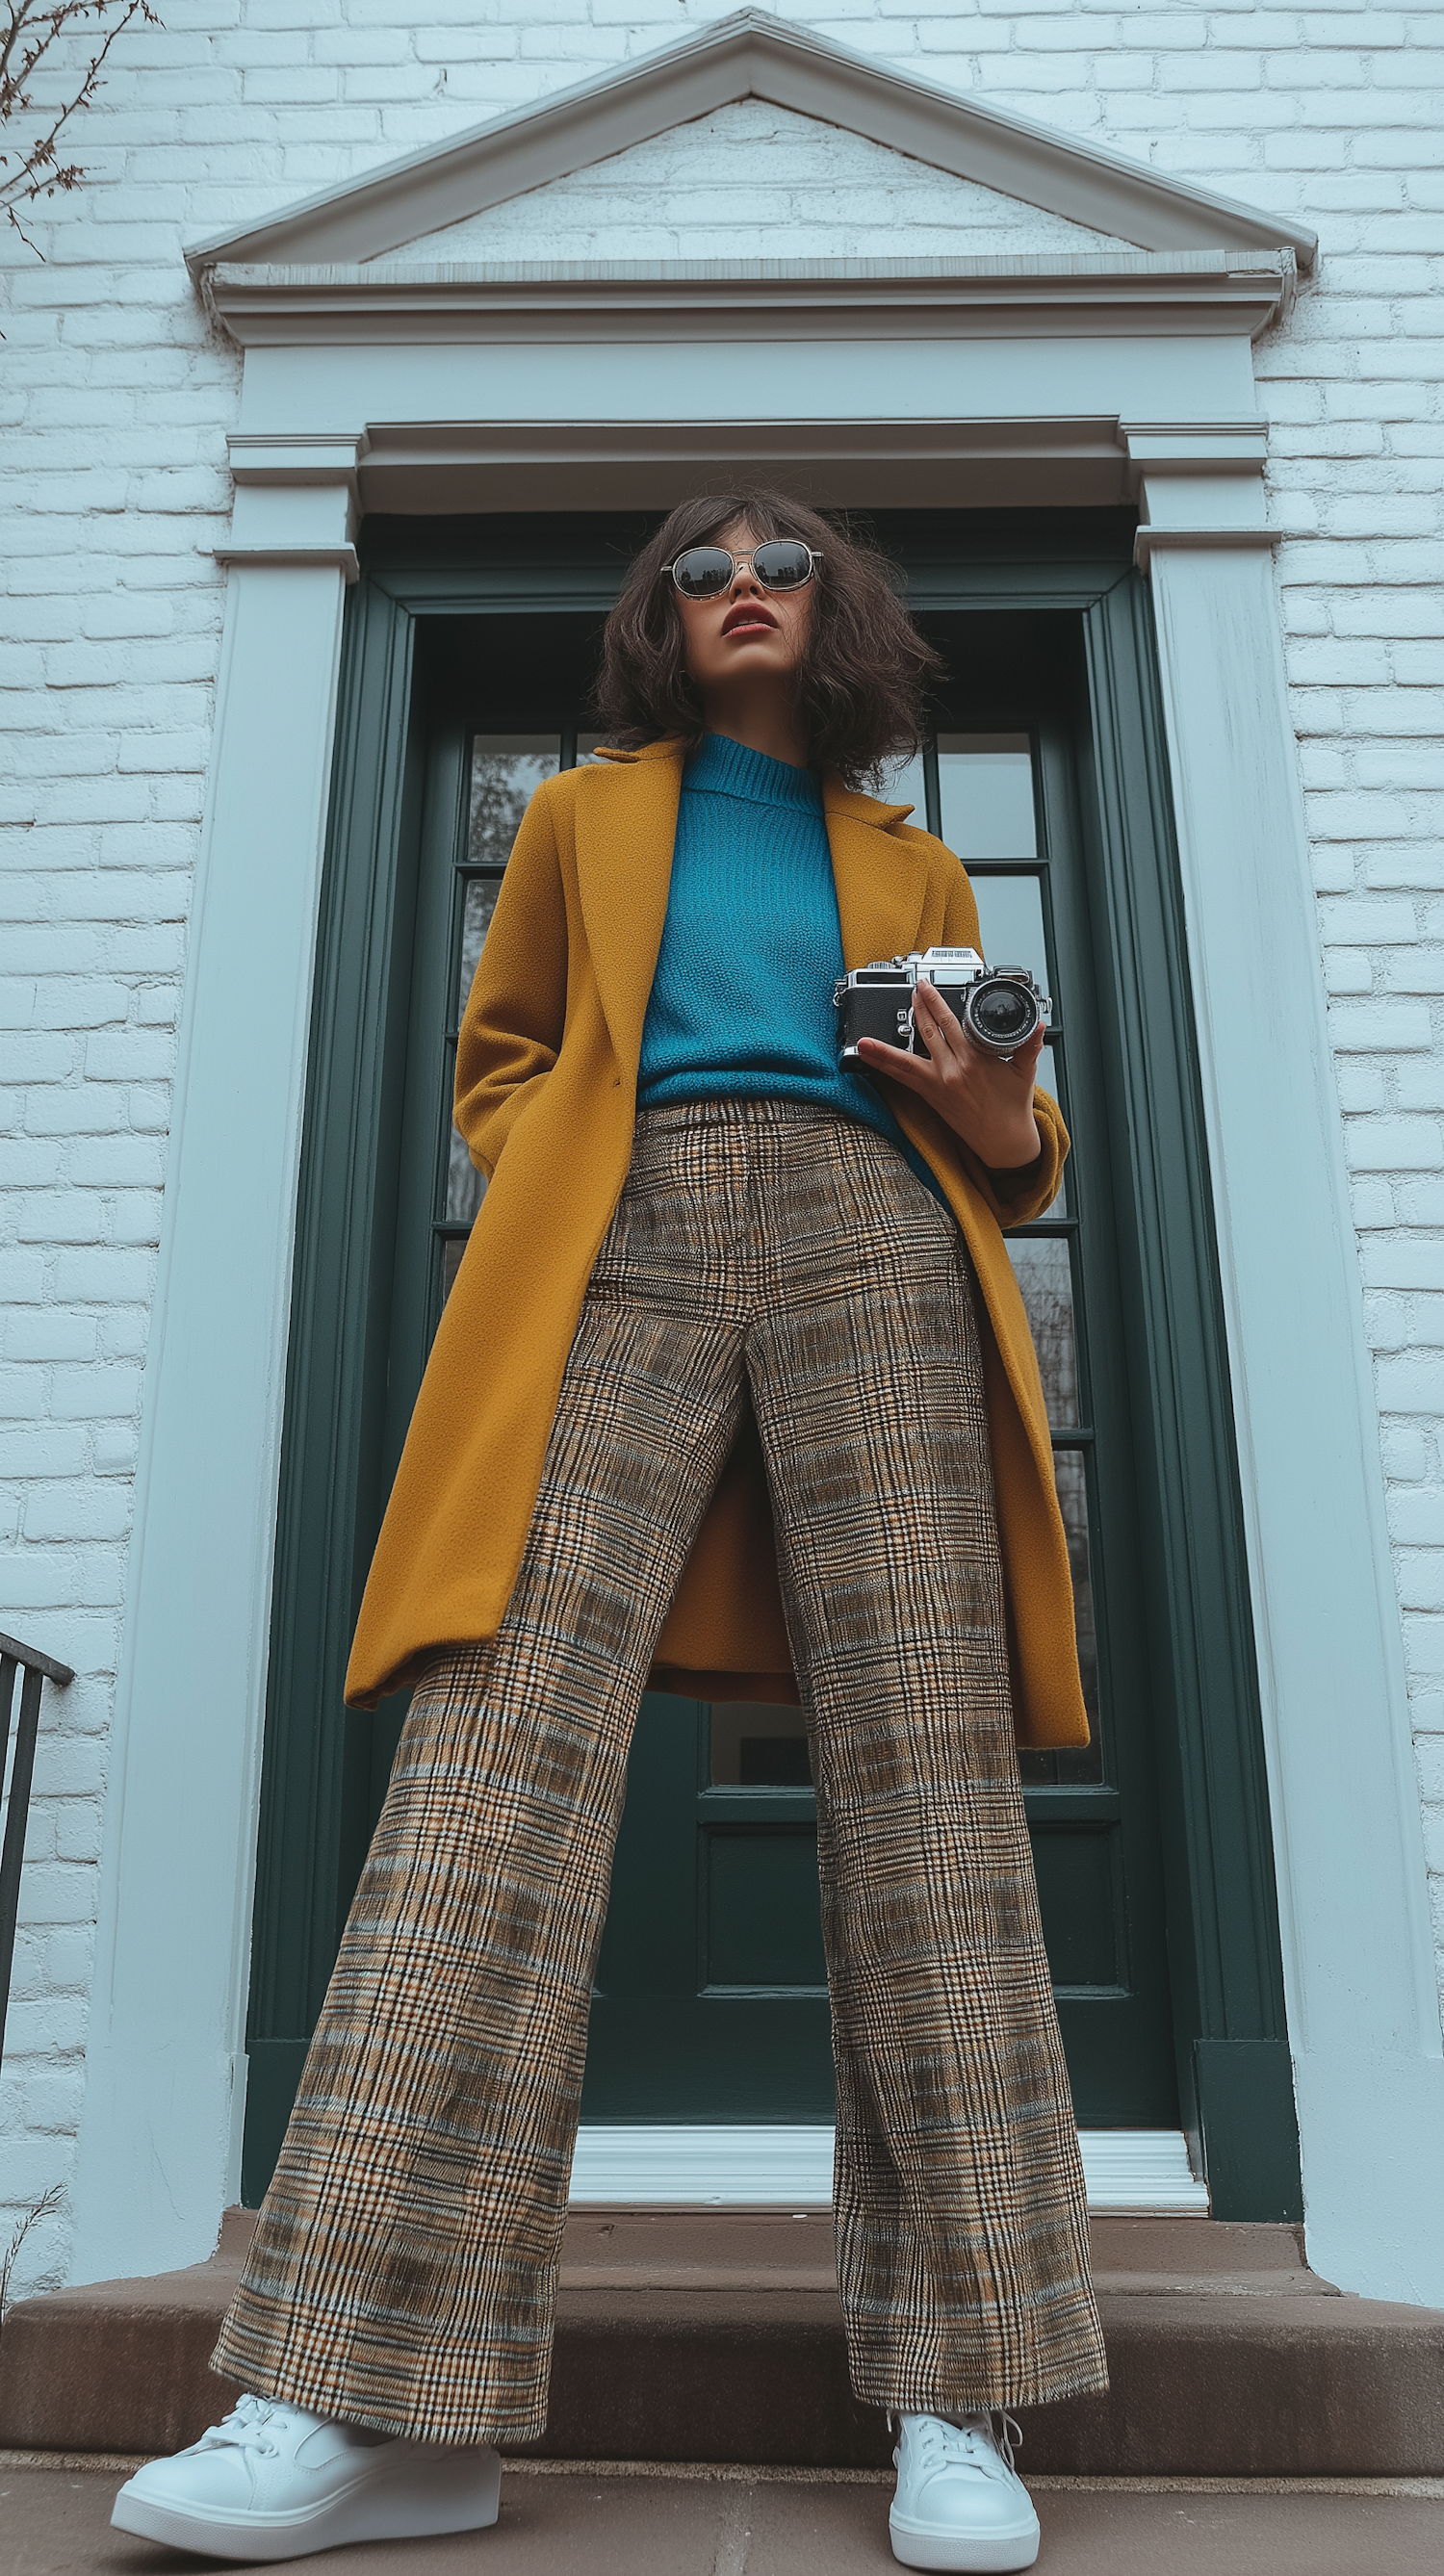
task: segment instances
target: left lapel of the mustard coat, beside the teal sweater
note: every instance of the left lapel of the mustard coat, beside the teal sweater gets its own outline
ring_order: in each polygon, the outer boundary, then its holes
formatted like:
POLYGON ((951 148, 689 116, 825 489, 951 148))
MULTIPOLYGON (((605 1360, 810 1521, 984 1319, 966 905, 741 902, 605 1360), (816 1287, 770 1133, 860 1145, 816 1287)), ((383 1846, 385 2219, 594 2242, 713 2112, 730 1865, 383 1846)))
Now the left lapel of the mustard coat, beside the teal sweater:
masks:
POLYGON ((682 744, 649 742, 631 760, 595 768, 577 788, 577 891, 597 994, 625 1072, 641 1061, 641 1023, 656 974, 682 744))

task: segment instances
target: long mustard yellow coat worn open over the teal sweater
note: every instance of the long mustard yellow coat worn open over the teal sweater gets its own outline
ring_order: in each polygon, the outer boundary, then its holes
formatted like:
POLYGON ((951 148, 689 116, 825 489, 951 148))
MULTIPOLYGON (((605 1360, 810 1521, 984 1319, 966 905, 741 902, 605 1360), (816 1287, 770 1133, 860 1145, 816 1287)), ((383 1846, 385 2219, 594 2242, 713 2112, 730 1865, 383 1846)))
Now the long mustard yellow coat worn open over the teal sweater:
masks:
MULTIPOLYGON (((561 1370, 628 1175, 682 747, 548 778, 512 850, 456 1054, 456 1123, 489 1188, 440 1319, 376 1543, 345 1695, 373 1708, 435 1646, 489 1638, 523 1556, 561 1370)), ((849 966, 976 945, 960 863, 909 806, 831 778, 826 835, 849 966)), ((983 1368, 1022 1744, 1086 1744, 1073 1587, 1037 1358, 999 1218, 1037 1216, 1068 1133, 1037 1095, 1042 1162, 999 1200, 986 1167, 911 1092, 901 1128, 958 1216, 983 1291, 983 1368)), ((687 1558, 654 1685, 795 1700, 757 1445, 739 1445, 687 1558)))

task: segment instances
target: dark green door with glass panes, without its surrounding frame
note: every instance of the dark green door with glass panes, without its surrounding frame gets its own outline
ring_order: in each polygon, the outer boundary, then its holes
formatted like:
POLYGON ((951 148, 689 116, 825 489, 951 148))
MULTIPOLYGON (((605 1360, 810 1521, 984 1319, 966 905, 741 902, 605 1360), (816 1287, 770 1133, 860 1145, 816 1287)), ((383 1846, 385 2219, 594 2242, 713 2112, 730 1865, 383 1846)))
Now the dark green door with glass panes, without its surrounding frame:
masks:
MULTIPOLYGON (((1060 1200, 1012 1260, 1053 1414, 1055 1473, 1094 1741, 1027 1754, 1024 1790, 1048 1950, 1084 2125, 1176 2125, 1156 1793, 1148 1759, 1135 1497, 1112 1193, 1099 1115, 1097 999, 1066 703, 1048 652, 978 670, 976 621, 934 618, 950 698, 893 783, 965 858, 994 961, 1055 997, 1040 1079, 1076 1136, 1060 1200), (965 729, 963 729, 965 726, 965 729)), ((430 703, 412 1059, 407 1069, 389 1450, 476 1216, 481 1180, 450 1126, 456 1023, 525 801, 587 757, 571 672, 577 621, 484 626, 430 703), (571 629, 571 631, 569 631, 571 629), (530 667, 528 667, 530 662, 530 667), (571 685, 569 685, 571 683, 571 685)), ((394 1726, 373 1734, 371 1808, 394 1726)), ((643 1703, 597 1973, 587 2117, 824 2120, 831 2053, 813 1795, 798 1710, 643 1703)))

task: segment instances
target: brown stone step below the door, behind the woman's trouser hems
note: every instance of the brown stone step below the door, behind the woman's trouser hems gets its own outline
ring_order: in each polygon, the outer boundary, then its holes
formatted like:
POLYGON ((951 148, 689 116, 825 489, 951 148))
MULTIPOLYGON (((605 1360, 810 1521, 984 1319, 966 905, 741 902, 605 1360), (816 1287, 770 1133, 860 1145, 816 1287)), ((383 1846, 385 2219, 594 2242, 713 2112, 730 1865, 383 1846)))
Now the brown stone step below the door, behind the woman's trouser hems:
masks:
MULTIPOLYGON (((252 2213, 211 2262, 21 2300, 0 2445, 165 2452, 229 2403, 208 2367, 252 2213)), ((1302 2231, 1097 2218, 1112 2388, 1024 2411, 1032 2473, 1444 2476, 1444 2313, 1341 2298, 1302 2231)), ((847 2388, 821 2210, 577 2210, 538 2455, 883 2468, 847 2388)))

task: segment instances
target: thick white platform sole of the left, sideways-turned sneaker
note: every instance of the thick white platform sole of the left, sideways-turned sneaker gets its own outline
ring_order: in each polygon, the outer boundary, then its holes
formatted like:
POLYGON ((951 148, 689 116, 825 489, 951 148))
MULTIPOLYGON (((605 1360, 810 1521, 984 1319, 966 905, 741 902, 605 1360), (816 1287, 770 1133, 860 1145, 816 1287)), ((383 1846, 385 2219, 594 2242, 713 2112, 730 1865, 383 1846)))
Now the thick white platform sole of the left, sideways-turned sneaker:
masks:
MULTIPOLYGON (((144 2476, 144 2470, 142 2470, 144 2476)), ((311 2558, 353 2540, 430 2540, 438 2532, 484 2532, 497 2519, 502 2463, 497 2452, 445 2452, 440 2445, 358 2476, 340 2494, 288 2514, 221 2514, 198 2504, 165 2504, 136 2494, 131 2478, 116 2496, 111 2524, 142 2540, 203 2558, 311 2558)))

